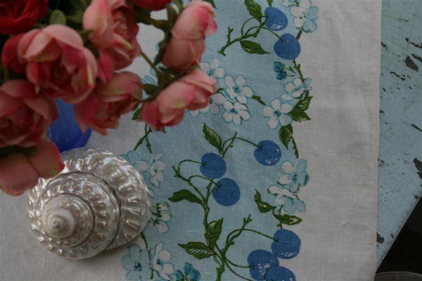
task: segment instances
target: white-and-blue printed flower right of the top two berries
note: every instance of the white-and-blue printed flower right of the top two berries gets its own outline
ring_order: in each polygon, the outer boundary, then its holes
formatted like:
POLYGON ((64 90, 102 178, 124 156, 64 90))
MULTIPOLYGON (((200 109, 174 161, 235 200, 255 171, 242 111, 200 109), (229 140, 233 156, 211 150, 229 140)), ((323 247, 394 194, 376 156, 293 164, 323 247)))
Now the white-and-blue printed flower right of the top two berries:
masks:
POLYGON ((312 33, 316 30, 315 20, 318 18, 319 9, 312 6, 310 0, 302 0, 299 6, 290 8, 290 13, 295 17, 293 20, 295 26, 301 28, 306 33, 312 33))

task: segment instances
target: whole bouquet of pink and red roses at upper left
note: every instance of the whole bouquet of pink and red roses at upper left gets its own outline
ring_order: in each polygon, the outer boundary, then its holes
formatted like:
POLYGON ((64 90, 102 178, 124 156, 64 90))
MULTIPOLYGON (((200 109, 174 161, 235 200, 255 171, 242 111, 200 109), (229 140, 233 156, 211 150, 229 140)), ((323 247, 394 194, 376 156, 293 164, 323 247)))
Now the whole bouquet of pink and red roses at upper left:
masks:
POLYGON ((162 130, 205 107, 215 80, 197 66, 205 36, 217 29, 213 17, 206 1, 0 1, 0 189, 20 195, 63 169, 46 137, 58 116, 54 99, 74 105, 82 130, 102 134, 132 110, 162 130), (153 18, 161 9, 167 19, 153 18), (136 40, 139 23, 163 32, 154 60, 136 40), (157 85, 123 70, 139 56, 157 85))

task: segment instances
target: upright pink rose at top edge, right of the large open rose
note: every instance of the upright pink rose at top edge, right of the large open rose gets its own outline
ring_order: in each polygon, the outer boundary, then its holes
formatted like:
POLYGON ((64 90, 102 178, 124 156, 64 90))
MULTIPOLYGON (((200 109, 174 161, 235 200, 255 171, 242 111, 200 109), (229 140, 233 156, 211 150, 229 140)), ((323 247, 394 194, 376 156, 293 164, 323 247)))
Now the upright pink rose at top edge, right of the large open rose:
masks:
POLYGON ((129 66, 140 55, 136 41, 139 27, 126 0, 91 1, 84 12, 83 25, 85 30, 92 30, 89 40, 112 55, 116 70, 129 66))

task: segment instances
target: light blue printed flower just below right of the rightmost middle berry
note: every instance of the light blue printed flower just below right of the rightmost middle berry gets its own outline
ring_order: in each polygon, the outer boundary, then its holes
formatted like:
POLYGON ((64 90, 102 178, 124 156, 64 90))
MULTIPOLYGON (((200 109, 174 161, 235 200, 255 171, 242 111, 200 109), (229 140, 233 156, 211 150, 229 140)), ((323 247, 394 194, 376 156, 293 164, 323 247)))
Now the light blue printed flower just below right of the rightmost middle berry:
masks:
POLYGON ((283 188, 290 190, 293 194, 299 191, 301 186, 307 185, 309 175, 306 171, 307 162, 305 159, 296 160, 293 164, 290 161, 281 164, 281 171, 283 174, 279 177, 279 183, 283 188))

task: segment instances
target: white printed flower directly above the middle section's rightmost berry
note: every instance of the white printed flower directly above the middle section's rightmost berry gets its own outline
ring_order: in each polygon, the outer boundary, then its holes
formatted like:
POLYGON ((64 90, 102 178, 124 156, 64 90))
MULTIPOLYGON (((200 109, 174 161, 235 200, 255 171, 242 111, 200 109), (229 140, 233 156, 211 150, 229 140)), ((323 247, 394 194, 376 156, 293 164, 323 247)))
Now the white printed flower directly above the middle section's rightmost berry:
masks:
POLYGON ((270 105, 262 108, 262 115, 269 118, 267 121, 269 129, 276 129, 279 125, 287 126, 293 122, 288 114, 293 110, 293 105, 285 101, 281 102, 278 98, 271 100, 270 105))

